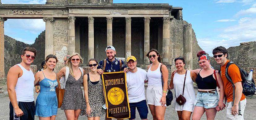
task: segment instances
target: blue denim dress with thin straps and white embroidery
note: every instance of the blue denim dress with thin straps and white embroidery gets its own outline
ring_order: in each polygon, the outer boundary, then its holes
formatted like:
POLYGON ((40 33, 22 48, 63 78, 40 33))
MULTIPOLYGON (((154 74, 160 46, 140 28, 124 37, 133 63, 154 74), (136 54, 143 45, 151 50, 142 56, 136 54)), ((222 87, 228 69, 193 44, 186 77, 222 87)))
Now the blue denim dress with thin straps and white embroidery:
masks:
POLYGON ((58 85, 57 79, 51 80, 44 78, 39 82, 39 84, 41 90, 36 99, 35 115, 39 117, 50 117, 57 115, 58 100, 55 92, 55 88, 58 85))

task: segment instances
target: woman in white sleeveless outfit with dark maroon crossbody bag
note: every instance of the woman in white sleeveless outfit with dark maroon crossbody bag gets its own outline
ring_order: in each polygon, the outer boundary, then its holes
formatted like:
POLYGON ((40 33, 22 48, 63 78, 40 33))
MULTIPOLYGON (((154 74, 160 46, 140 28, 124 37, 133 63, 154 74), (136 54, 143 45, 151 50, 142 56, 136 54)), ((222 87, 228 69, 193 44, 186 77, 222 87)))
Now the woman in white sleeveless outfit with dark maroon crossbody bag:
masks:
POLYGON ((197 75, 189 70, 185 70, 185 60, 183 57, 177 57, 174 59, 175 67, 177 68, 177 72, 172 75, 171 82, 169 84, 169 89, 173 89, 175 91, 175 98, 173 102, 173 108, 177 110, 177 114, 179 120, 190 120, 190 116, 194 110, 194 101, 195 101, 195 92, 193 87, 193 81, 197 75), (184 94, 183 96, 186 98, 186 103, 184 105, 179 105, 176 102, 176 98, 183 93, 183 85, 184 85, 184 78, 185 73, 186 81, 184 87, 184 94))

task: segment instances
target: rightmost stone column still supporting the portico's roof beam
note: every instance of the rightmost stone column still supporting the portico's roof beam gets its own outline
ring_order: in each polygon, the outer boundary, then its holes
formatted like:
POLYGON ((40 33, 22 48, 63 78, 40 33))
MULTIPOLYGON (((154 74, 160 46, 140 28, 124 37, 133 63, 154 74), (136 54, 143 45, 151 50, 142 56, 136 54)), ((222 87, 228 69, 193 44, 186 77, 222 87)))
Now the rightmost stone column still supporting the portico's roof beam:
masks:
POLYGON ((170 17, 163 18, 163 64, 169 64, 170 17))

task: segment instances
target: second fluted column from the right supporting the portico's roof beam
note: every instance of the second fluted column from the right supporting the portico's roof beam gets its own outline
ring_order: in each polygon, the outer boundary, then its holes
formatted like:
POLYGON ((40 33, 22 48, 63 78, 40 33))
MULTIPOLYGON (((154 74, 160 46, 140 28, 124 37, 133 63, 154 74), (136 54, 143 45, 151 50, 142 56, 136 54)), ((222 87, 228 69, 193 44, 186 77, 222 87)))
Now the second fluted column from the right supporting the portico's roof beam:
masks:
POLYGON ((147 52, 149 51, 149 23, 150 17, 144 17, 144 64, 149 64, 147 52))

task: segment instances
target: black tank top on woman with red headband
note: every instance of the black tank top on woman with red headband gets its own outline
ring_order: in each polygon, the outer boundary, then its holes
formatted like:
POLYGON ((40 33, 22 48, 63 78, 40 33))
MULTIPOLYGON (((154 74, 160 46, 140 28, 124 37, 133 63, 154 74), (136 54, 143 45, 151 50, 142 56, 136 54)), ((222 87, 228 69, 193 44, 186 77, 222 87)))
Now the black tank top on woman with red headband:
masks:
POLYGON ((213 78, 213 75, 212 75, 213 73, 211 75, 208 75, 202 78, 201 75, 199 74, 200 71, 198 72, 196 77, 196 83, 197 83, 198 89, 202 89, 202 90, 216 89, 217 83, 216 83, 216 80, 213 78))

